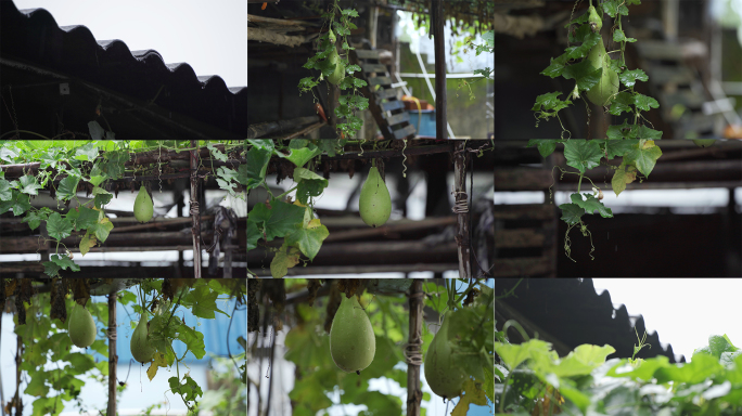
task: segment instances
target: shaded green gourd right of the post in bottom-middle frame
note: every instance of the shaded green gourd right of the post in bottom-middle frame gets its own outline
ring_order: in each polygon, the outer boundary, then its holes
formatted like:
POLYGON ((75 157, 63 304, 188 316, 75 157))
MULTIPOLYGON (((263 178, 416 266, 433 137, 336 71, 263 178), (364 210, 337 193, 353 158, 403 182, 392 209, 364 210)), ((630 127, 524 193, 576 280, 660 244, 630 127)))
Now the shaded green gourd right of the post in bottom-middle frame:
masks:
POLYGON ((434 393, 452 399, 461 395, 465 376, 461 367, 451 360, 451 344, 448 341, 448 321, 451 312, 444 315, 440 329, 433 337, 425 355, 425 379, 434 393))

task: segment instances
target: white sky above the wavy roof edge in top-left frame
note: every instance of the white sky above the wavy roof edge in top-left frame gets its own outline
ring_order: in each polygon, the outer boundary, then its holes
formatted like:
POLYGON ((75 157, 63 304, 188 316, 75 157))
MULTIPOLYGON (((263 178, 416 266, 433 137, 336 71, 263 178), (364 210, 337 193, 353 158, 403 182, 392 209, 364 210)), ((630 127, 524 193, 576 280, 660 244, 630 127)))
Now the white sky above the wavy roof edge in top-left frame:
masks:
POLYGON ((84 25, 97 40, 119 39, 131 51, 154 49, 166 64, 184 62, 197 76, 247 86, 247 2, 244 0, 14 0, 46 9, 59 26, 84 25))

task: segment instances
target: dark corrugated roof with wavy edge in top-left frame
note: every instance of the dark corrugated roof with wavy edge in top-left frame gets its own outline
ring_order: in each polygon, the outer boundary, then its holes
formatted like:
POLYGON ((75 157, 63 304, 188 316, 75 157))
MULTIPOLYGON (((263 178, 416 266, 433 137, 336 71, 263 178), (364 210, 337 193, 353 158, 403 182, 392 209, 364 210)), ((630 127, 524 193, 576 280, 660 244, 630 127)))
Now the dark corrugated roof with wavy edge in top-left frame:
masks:
MULTIPOLYGON (((227 87, 216 75, 197 76, 187 63, 165 63, 155 50, 130 51, 118 39, 97 40, 82 25, 60 27, 44 9, 18 10, 12 1, 1 0, 0 22, 0 56, 4 60, 91 82, 143 102, 156 96, 153 104, 157 109, 177 112, 244 138, 246 87, 227 87)), ((8 65, 3 63, 3 87, 27 81, 15 76, 8 65)))

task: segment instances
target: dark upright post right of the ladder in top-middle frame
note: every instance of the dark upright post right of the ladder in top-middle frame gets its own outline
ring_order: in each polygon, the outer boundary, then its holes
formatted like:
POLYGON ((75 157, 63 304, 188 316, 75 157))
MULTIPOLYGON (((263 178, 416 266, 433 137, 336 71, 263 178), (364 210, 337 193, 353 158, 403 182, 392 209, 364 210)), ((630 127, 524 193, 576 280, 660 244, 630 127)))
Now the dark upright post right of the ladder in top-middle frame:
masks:
POLYGON ((433 0, 431 6, 431 25, 434 26, 435 34, 435 138, 448 139, 446 130, 446 49, 444 42, 446 35, 444 23, 446 18, 443 14, 443 0, 433 0), (435 11, 435 12, 434 12, 435 11))

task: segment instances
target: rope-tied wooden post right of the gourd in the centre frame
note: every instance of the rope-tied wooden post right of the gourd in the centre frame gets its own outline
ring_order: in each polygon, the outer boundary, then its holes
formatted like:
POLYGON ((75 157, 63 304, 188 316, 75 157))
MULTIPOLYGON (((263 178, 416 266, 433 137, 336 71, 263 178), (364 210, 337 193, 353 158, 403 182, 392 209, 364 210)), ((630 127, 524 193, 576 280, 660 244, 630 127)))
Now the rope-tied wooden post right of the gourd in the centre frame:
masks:
POLYGON ((456 242, 459 246, 459 277, 473 277, 470 262, 471 247, 469 245, 471 230, 469 229, 469 197, 466 195, 466 141, 453 144, 453 212, 457 214, 456 242))

